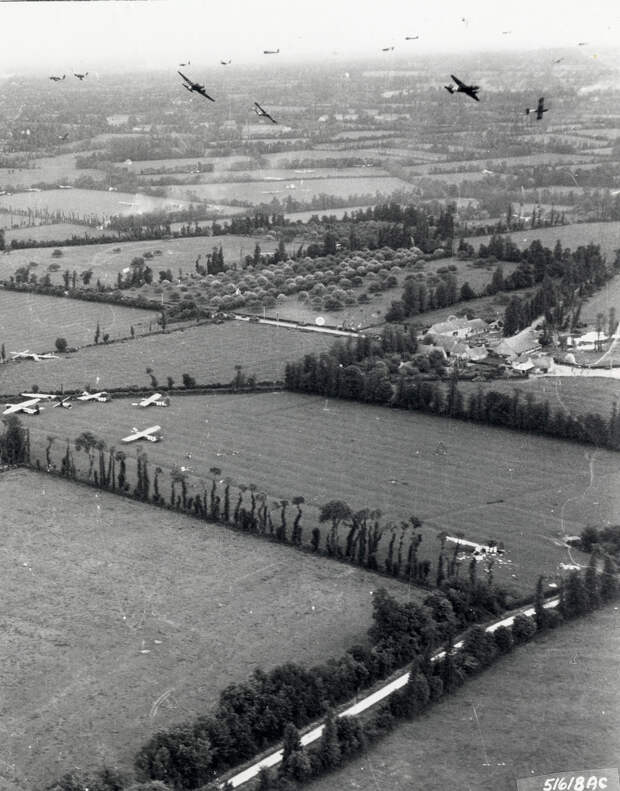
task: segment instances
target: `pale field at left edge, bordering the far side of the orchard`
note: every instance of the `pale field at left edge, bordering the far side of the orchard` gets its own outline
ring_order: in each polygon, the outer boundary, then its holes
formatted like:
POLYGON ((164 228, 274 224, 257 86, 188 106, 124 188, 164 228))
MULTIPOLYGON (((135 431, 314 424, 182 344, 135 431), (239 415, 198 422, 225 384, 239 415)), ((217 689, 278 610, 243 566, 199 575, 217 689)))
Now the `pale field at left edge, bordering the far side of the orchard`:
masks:
MULTIPOLYGON (((26 266, 31 261, 36 261, 39 266, 33 270, 37 277, 46 274, 47 268, 52 263, 60 264, 57 272, 51 272, 52 283, 62 283, 62 273, 65 269, 79 275, 85 269, 92 269, 93 277, 90 286, 95 287, 97 278, 103 285, 114 285, 117 274, 129 266, 132 259, 144 256, 145 253, 161 251, 161 255, 154 255, 146 259, 153 270, 154 281, 159 280, 162 269, 171 269, 174 277, 179 269, 184 272, 195 272, 195 263, 199 255, 203 257, 211 253, 214 247, 222 247, 224 262, 226 264, 238 263, 240 258, 252 255, 256 244, 260 245, 261 252, 273 253, 278 243, 262 236, 194 236, 184 239, 156 239, 151 242, 110 242, 108 244, 71 245, 62 248, 62 257, 53 257, 53 248, 37 248, 13 250, 8 255, 0 256, 0 279, 8 279, 20 266, 26 266), (116 252, 115 252, 116 251, 116 252)), ((291 245, 291 249, 294 245, 291 245)), ((204 262, 202 262, 204 265, 204 262)), ((82 281, 78 280, 81 285, 82 281)), ((127 292, 130 293, 130 292, 127 292)))

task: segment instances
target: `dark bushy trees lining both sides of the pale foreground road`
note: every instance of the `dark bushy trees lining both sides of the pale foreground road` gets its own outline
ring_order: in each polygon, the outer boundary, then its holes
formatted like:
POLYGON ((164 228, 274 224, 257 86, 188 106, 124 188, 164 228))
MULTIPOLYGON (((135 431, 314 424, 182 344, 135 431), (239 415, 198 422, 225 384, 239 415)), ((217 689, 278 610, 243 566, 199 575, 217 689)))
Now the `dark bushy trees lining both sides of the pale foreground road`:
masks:
MULTIPOLYGON (((399 721, 419 717, 516 646, 614 601, 617 569, 606 556, 593 558, 583 575, 571 572, 560 581, 557 608, 545 607, 543 590, 541 577, 533 617, 517 614, 510 626, 493 631, 473 625, 457 650, 458 626, 443 594, 433 594, 419 606, 398 603, 381 589, 373 600, 369 648, 354 646, 340 659, 310 669, 289 663, 269 673, 255 670, 248 682, 230 685, 221 693, 212 715, 152 737, 136 756, 139 782, 131 789, 228 789, 228 783, 222 786, 214 779, 216 774, 281 740, 282 760, 277 769, 260 771, 257 789, 292 791, 364 752, 399 721), (403 687, 363 719, 336 716, 339 702, 385 678, 399 663, 409 666, 403 687), (323 720, 320 739, 303 747, 299 729, 319 719, 323 720)), ((65 775, 46 791, 122 791, 129 782, 119 773, 101 769, 65 775)))

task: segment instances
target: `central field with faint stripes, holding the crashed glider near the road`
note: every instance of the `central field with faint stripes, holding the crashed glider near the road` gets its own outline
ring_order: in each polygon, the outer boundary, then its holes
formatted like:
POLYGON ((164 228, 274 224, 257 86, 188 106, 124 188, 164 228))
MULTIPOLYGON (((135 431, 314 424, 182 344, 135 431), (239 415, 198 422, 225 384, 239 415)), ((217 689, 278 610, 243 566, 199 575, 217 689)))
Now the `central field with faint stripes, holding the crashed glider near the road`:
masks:
MULTIPOLYGON (((306 531, 331 499, 354 510, 380 508, 396 524, 415 514, 425 524, 420 553, 433 562, 442 530, 503 541, 510 563, 500 563, 496 577, 521 593, 575 557, 562 534, 613 524, 620 514, 620 464, 612 452, 287 392, 173 395, 169 408, 149 412, 132 407, 133 400, 45 410, 27 422, 33 450, 45 464, 46 438, 57 436, 59 464, 65 437, 90 430, 118 448, 132 426, 158 423, 164 440, 145 448, 151 464, 170 470, 187 465, 191 453, 190 481, 200 493, 217 467, 270 499, 303 496, 306 531), (440 442, 447 453, 436 452, 440 442)), ((137 452, 127 446, 130 458, 137 452)), ((74 455, 76 464, 87 463, 83 453, 74 455)))

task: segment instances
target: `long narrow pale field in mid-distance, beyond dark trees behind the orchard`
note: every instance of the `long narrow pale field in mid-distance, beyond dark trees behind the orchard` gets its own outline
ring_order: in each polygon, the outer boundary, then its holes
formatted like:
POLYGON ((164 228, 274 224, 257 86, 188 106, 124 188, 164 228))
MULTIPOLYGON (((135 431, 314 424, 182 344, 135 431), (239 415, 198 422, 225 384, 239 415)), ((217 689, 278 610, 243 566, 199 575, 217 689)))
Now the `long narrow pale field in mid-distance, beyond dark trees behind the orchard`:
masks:
MULTIPOLYGON (((287 189, 284 184, 270 181, 245 181, 231 184, 192 184, 167 187, 167 194, 171 200, 191 200, 191 195, 198 196, 203 201, 245 200, 252 203, 269 202, 270 195, 287 195, 303 200, 310 200, 315 195, 322 193, 346 198, 351 195, 374 195, 376 192, 389 194, 395 190, 408 189, 406 181, 391 176, 372 178, 365 176, 356 179, 314 179, 305 180, 297 178, 291 181, 295 189, 287 189), (303 184, 301 183, 303 181, 303 184)), ((15 196, 14 196, 15 197, 15 196)))

